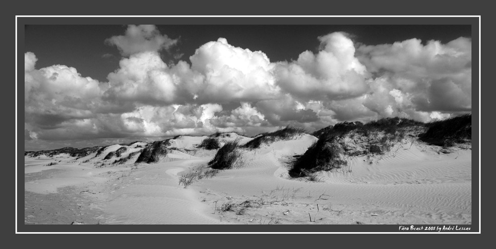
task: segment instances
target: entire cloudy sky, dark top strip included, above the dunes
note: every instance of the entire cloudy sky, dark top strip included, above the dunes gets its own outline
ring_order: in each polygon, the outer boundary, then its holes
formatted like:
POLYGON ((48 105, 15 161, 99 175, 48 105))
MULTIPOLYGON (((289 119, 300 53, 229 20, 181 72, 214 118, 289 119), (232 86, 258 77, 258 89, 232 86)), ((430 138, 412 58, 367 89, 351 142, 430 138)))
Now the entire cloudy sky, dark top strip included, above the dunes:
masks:
POLYGON ((26 150, 472 107, 468 25, 29 25, 26 150))

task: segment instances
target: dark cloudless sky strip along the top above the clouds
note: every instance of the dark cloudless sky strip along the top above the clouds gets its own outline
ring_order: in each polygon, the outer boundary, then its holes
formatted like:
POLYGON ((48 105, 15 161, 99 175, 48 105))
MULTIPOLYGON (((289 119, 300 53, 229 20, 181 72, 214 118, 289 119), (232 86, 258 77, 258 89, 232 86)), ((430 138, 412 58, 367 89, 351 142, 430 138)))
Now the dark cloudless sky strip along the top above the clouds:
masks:
MULTIPOLYGON (((271 61, 297 59, 305 50, 318 50, 319 36, 341 31, 349 33, 356 43, 389 44, 412 38, 449 42, 470 37, 470 25, 157 25, 162 34, 178 39, 175 50, 189 61, 194 51, 209 41, 226 38, 229 44, 261 50, 271 61)), ((119 67, 116 47, 105 39, 122 35, 126 25, 26 25, 25 52, 38 57, 37 67, 62 64, 77 68, 83 76, 106 81, 109 72, 119 67), (102 57, 112 54, 112 57, 102 57)), ((162 51, 164 61, 175 60, 162 51)))

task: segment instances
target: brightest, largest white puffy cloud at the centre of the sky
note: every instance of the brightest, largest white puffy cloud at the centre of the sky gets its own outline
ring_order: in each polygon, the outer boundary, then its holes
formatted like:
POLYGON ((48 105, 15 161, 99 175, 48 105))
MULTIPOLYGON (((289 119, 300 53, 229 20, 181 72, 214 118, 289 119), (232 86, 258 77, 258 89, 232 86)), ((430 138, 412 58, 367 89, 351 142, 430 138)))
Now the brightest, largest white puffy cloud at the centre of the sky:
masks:
POLYGON ((197 86, 199 102, 254 101, 277 98, 267 55, 234 47, 224 38, 208 42, 189 57, 191 69, 204 76, 197 86))

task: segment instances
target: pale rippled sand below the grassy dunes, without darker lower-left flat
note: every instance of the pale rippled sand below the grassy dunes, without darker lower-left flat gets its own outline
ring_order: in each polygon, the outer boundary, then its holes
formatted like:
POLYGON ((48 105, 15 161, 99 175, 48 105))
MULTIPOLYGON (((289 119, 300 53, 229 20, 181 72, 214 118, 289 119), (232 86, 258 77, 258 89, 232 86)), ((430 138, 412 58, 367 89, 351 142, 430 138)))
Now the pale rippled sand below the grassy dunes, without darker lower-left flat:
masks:
MULTIPOLYGON (((316 140, 304 135, 242 150, 242 167, 185 189, 179 177, 215 154, 195 149, 205 138, 180 137, 170 146, 178 150, 137 168, 132 160, 120 167, 95 168, 98 158, 81 163, 91 155, 77 162, 57 158, 62 162, 53 166, 40 166, 51 160, 26 157, 26 174, 45 168, 60 173, 25 187, 47 193, 71 185, 98 193, 88 195, 105 211, 100 219, 107 224, 471 224, 471 150, 443 154, 408 142, 382 157, 357 157, 346 167, 321 172, 320 182, 306 182, 289 179, 284 163, 316 140), (243 208, 244 201, 251 206, 243 208), (231 211, 219 210, 228 203, 235 204, 231 211)), ((241 139, 242 144, 250 140, 241 139)))

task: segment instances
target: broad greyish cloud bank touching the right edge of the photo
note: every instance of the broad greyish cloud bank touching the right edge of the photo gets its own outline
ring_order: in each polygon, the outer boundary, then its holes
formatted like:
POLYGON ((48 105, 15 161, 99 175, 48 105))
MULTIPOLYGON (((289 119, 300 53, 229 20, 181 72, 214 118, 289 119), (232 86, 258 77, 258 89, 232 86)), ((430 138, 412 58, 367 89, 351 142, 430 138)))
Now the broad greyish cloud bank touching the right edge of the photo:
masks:
POLYGON ((460 37, 447 44, 410 39, 393 44, 361 46, 360 60, 396 89, 411 95, 417 111, 470 111, 472 42, 460 37))

